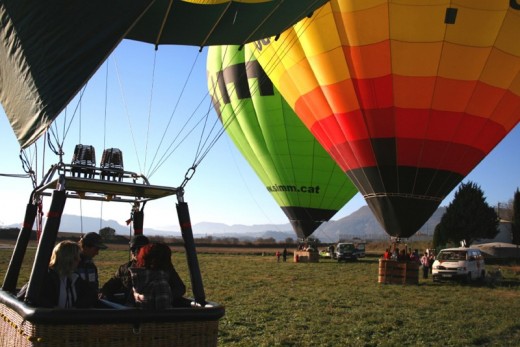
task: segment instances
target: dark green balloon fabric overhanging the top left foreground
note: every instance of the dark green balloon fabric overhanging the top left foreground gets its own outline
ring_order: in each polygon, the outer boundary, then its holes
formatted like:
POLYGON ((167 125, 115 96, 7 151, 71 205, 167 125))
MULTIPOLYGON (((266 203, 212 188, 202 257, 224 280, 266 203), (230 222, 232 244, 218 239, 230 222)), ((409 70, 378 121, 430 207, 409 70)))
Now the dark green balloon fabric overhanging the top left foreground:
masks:
POLYGON ((49 127, 123 38, 203 47, 276 35, 325 0, 6 0, 0 102, 23 148, 49 127))

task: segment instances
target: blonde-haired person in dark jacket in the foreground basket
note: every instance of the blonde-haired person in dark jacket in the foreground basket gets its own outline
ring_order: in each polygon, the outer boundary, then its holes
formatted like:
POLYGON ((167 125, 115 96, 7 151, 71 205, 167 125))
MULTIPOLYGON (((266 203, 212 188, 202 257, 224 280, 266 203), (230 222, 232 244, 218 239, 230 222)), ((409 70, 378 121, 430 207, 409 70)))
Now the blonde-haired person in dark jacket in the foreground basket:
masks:
POLYGON ((54 247, 37 306, 89 308, 96 305, 97 292, 74 272, 79 260, 80 247, 76 242, 62 241, 54 247))

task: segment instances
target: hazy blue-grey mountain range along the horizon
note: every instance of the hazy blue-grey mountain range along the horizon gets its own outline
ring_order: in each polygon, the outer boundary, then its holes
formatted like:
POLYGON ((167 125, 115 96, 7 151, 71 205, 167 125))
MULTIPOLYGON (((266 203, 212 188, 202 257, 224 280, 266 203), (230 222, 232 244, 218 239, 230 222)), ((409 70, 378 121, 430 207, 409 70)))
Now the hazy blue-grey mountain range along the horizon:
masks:
MULTIPOLYGON (((419 229, 414 237, 429 237, 433 235, 435 226, 440 222, 445 207, 440 207, 426 224, 419 229)), ((145 223, 146 224, 146 223, 145 223)), ((10 225, 6 227, 16 227, 10 225)), ((63 215, 60 224, 60 231, 64 232, 90 232, 97 231, 104 227, 113 228, 119 235, 130 234, 130 228, 122 225, 115 220, 102 220, 94 217, 79 217, 75 215, 63 215)), ((255 240, 257 238, 274 238, 277 241, 284 241, 287 238, 296 240, 290 223, 286 224, 258 224, 258 225, 227 225, 223 223, 203 222, 193 226, 195 237, 208 236, 224 238, 234 237, 241 240, 255 240)), ((170 229, 170 228, 168 228, 170 229)), ((158 230, 144 228, 145 234, 180 237, 178 226, 171 227, 171 230, 158 230)), ((363 206, 347 217, 339 220, 332 220, 322 224, 312 235, 324 242, 336 242, 341 239, 351 239, 360 237, 363 239, 388 239, 388 235, 381 228, 374 215, 368 208, 363 206)))

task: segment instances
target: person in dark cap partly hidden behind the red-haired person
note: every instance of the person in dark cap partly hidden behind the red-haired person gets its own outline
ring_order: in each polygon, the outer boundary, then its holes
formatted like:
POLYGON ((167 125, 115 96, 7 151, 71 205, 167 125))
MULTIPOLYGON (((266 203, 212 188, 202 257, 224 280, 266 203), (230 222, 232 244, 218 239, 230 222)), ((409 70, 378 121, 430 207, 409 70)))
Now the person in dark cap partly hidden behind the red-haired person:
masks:
POLYGON ((128 269, 136 265, 136 256, 139 249, 149 243, 150 240, 144 235, 132 237, 130 240, 130 261, 119 266, 114 276, 101 287, 103 298, 120 304, 133 304, 132 279, 128 269))

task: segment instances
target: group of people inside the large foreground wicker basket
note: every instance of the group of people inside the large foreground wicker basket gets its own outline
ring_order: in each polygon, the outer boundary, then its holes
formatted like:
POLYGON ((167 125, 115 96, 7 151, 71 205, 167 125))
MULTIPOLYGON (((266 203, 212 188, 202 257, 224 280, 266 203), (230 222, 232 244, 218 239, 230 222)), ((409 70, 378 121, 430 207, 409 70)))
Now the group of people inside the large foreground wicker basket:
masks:
MULTIPOLYGON (((130 260, 102 286, 94 257, 106 249, 95 232, 79 242, 61 241, 54 247, 36 306, 48 308, 92 308, 110 300, 142 309, 189 307, 186 286, 173 266, 172 252, 162 242, 136 235, 130 242, 130 260)), ((18 293, 25 298, 27 285, 18 293)))

